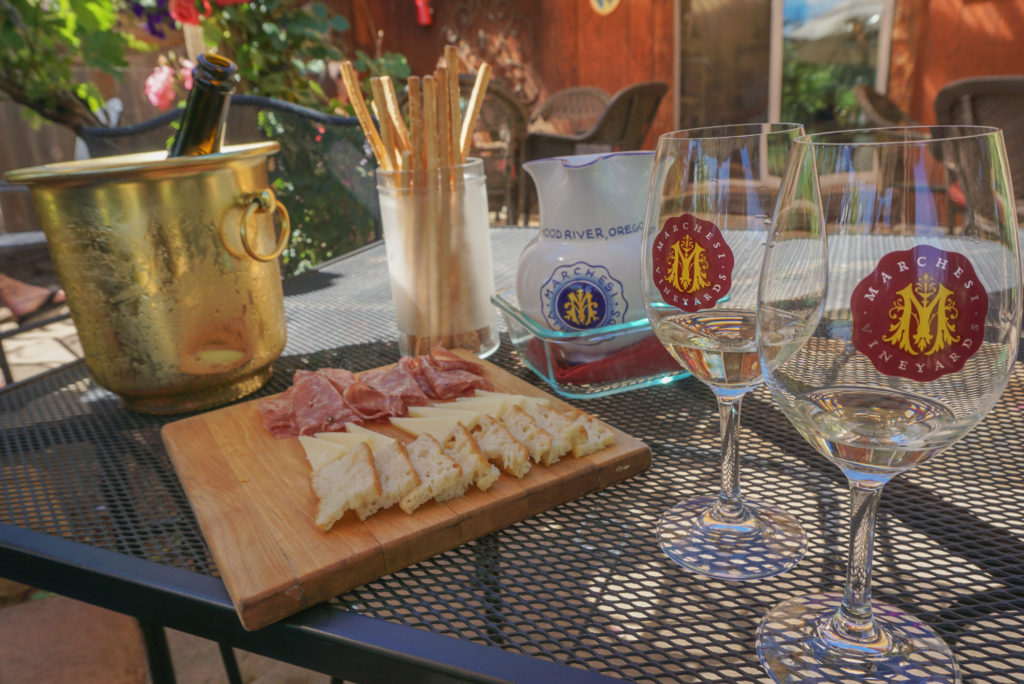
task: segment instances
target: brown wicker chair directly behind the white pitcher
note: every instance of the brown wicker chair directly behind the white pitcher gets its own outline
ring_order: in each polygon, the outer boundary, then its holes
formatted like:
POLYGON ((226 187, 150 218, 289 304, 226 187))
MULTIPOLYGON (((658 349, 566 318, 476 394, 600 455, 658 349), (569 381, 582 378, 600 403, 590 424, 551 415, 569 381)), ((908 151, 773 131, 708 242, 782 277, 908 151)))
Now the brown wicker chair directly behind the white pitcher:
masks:
MULTIPOLYGON (((636 83, 623 88, 608 100, 597 123, 579 135, 556 135, 532 132, 526 136, 524 162, 549 157, 584 155, 596 152, 639 149, 654 121, 669 84, 659 81, 636 83)), ((529 218, 532 181, 522 174, 520 197, 523 198, 524 220, 529 218)))

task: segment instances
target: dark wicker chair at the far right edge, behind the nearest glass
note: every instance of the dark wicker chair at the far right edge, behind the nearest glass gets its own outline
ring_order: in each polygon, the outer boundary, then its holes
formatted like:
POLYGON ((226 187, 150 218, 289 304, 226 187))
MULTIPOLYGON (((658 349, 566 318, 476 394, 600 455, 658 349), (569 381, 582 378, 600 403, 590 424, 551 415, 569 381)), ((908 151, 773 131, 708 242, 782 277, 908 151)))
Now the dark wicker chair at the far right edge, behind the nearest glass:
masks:
POLYGON ((1017 216, 1024 220, 1024 76, 981 76, 947 83, 935 96, 940 125, 973 124, 1002 129, 1017 216))

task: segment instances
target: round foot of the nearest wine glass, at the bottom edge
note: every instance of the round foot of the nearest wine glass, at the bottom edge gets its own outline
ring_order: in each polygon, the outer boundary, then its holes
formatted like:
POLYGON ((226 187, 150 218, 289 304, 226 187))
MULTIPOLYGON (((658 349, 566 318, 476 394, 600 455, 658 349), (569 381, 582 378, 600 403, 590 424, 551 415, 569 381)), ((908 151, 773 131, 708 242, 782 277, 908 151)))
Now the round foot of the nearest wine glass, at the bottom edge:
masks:
POLYGON ((837 644, 822 636, 841 594, 812 594, 775 606, 758 628, 758 657, 776 682, 959 682, 949 647, 927 625, 891 605, 873 603, 886 639, 837 644))

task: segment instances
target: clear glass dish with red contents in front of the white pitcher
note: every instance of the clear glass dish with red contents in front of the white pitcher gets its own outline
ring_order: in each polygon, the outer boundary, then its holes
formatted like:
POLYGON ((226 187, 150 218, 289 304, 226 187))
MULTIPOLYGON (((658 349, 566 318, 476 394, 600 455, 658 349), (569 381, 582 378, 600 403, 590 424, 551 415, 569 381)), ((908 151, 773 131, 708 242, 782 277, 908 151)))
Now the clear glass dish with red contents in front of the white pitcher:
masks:
POLYGON ((561 396, 589 399, 689 376, 657 341, 646 318, 561 332, 519 310, 512 288, 499 290, 490 301, 505 317, 519 359, 561 396), (588 360, 568 360, 585 352, 588 360))

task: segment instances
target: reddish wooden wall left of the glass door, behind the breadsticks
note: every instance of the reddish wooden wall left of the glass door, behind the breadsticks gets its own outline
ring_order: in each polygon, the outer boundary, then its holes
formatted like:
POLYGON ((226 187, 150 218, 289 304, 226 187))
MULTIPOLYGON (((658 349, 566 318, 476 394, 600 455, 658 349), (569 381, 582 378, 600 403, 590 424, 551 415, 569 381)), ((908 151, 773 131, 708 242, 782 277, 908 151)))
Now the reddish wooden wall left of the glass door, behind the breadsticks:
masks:
MULTIPOLYGON (((417 24, 410 0, 334 0, 352 24, 353 47, 400 51, 414 74, 431 72, 452 37, 488 51, 496 76, 532 109, 571 86, 609 93, 638 81, 673 84, 675 0, 623 0, 601 16, 588 0, 433 0, 433 25, 417 24), (480 36, 488 40, 480 43, 480 36), (504 66, 504 68, 503 68, 504 66)), ((672 129, 674 90, 663 100, 647 146, 672 129)))

